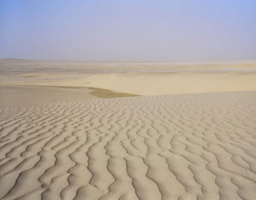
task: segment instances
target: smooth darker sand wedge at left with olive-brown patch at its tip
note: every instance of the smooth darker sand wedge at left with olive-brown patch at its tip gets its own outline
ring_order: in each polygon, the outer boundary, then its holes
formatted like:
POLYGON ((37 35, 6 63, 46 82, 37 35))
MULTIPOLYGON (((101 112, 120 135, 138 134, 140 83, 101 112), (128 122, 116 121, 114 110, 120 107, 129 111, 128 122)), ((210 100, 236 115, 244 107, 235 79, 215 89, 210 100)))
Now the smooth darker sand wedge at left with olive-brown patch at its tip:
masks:
POLYGON ((22 107, 47 103, 82 101, 84 99, 134 97, 100 88, 0 86, 0 107, 22 107))

